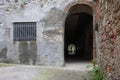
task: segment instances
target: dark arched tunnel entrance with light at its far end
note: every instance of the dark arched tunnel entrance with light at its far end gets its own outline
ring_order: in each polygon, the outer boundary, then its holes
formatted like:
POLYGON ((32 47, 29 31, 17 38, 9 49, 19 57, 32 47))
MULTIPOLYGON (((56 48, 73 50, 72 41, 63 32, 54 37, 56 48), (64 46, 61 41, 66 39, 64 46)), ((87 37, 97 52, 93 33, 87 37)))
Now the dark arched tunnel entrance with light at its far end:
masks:
POLYGON ((71 8, 65 21, 65 61, 93 59, 93 11, 86 5, 71 8))

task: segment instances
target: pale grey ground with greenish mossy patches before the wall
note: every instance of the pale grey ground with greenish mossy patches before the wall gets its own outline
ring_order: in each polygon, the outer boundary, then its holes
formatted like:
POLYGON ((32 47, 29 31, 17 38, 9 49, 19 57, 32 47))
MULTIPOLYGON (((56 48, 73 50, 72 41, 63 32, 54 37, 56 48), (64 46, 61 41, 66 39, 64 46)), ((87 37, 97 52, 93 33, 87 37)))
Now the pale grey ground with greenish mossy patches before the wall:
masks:
POLYGON ((83 75, 91 69, 84 64, 67 67, 45 67, 28 65, 8 65, 0 63, 0 80, 83 80, 83 75))

